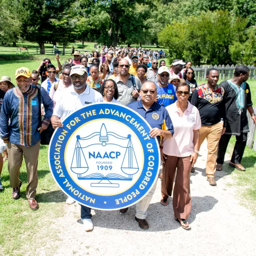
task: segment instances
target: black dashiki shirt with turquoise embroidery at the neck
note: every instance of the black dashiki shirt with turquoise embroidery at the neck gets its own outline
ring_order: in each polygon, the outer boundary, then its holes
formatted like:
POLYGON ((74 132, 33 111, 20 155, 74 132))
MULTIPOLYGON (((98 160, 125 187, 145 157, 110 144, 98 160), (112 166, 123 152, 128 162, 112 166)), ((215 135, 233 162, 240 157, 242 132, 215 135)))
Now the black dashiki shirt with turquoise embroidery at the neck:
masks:
POLYGON ((225 90, 224 103, 226 107, 225 134, 238 135, 249 132, 247 107, 253 105, 249 85, 243 82, 240 87, 230 79, 220 83, 225 90))

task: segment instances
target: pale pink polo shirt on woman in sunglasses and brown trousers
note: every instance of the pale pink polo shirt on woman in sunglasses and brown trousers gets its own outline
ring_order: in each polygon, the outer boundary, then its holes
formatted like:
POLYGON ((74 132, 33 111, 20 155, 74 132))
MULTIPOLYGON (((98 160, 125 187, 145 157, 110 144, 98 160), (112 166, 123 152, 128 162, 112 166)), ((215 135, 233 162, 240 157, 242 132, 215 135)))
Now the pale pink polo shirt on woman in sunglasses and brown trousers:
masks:
POLYGON ((194 130, 201 127, 199 112, 190 102, 182 116, 177 109, 177 102, 166 109, 174 126, 174 135, 171 139, 164 139, 163 152, 169 156, 188 157, 194 151, 194 130))

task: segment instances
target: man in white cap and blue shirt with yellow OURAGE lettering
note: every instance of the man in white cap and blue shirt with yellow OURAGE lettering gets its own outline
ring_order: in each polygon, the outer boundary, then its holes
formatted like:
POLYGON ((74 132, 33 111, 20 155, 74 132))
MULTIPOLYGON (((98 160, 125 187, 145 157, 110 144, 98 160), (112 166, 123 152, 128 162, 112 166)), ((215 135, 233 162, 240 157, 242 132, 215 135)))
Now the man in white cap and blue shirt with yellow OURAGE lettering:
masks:
POLYGON ((177 101, 176 87, 170 83, 170 71, 166 66, 158 69, 157 100, 158 103, 167 107, 177 101))

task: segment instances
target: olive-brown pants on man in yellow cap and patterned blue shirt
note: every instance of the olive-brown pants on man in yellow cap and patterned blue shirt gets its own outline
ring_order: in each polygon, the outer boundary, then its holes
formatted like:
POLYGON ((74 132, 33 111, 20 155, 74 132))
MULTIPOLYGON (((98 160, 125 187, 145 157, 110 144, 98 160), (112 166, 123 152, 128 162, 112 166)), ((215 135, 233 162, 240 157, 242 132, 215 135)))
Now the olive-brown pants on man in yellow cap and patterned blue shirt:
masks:
POLYGON ((19 174, 24 156, 28 177, 28 185, 26 187, 27 199, 34 199, 36 197, 36 187, 38 184, 37 161, 39 149, 40 141, 28 148, 18 144, 9 143, 8 171, 10 174, 10 187, 20 186, 19 174))

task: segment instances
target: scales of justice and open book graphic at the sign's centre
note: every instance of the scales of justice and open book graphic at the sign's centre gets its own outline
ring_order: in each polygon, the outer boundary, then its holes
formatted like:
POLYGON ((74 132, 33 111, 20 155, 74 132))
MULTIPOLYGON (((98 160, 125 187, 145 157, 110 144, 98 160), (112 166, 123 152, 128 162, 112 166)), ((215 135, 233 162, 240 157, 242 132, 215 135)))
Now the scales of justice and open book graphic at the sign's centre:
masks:
POLYGON ((119 187, 113 181, 132 181, 139 167, 131 135, 123 137, 107 131, 104 123, 100 131, 91 135, 83 138, 77 135, 70 169, 77 174, 78 180, 99 180, 91 183, 91 187, 119 187), (99 168, 95 164, 97 161, 108 164, 99 168))

